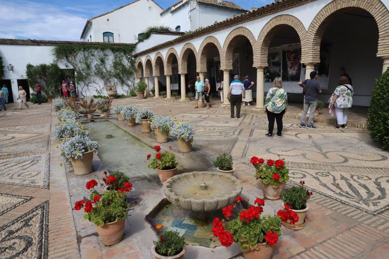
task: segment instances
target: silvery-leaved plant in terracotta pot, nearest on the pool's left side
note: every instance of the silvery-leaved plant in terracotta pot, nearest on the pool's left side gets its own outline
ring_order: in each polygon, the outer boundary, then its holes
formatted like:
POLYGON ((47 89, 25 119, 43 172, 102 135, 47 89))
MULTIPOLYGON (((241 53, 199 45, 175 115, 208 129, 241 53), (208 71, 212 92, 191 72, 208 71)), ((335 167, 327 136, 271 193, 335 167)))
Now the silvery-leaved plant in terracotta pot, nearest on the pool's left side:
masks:
POLYGON ((93 151, 98 149, 97 141, 88 136, 75 135, 62 141, 61 155, 66 161, 70 161, 74 168, 74 174, 84 175, 92 172, 93 151))

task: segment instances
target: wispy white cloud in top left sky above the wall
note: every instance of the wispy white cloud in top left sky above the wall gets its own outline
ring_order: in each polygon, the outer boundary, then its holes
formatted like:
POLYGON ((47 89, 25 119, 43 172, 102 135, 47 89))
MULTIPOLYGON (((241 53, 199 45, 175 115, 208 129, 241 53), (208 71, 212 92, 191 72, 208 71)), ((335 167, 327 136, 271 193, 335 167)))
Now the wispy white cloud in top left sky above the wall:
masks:
POLYGON ((68 8, 0 0, 0 38, 79 40, 87 20, 68 8))

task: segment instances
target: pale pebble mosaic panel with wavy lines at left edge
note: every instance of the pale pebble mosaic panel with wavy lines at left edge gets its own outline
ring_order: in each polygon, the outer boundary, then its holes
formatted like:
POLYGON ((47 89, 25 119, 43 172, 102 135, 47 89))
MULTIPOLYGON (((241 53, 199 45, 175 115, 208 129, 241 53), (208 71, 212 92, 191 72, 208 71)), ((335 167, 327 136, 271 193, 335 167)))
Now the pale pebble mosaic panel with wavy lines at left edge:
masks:
POLYGON ((50 154, 0 159, 0 183, 48 188, 50 154))

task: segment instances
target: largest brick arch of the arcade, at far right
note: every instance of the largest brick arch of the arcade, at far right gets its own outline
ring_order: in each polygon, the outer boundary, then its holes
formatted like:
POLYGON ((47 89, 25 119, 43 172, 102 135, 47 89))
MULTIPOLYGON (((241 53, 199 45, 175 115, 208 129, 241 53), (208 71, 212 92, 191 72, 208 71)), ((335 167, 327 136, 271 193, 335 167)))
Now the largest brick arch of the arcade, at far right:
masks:
POLYGON ((378 57, 389 56, 389 11, 381 0, 333 0, 324 6, 312 20, 307 31, 306 63, 320 62, 320 45, 324 32, 336 17, 336 12, 344 8, 357 7, 368 11, 376 20, 379 39, 378 57))

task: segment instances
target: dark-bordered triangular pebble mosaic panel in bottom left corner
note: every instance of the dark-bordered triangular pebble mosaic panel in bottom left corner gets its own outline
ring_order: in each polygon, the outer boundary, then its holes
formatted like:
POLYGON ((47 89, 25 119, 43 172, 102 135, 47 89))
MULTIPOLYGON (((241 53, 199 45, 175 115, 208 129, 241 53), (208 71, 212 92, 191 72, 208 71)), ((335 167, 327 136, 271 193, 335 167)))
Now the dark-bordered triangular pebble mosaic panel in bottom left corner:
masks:
POLYGON ((48 253, 48 202, 0 227, 1 259, 43 259, 48 253))

